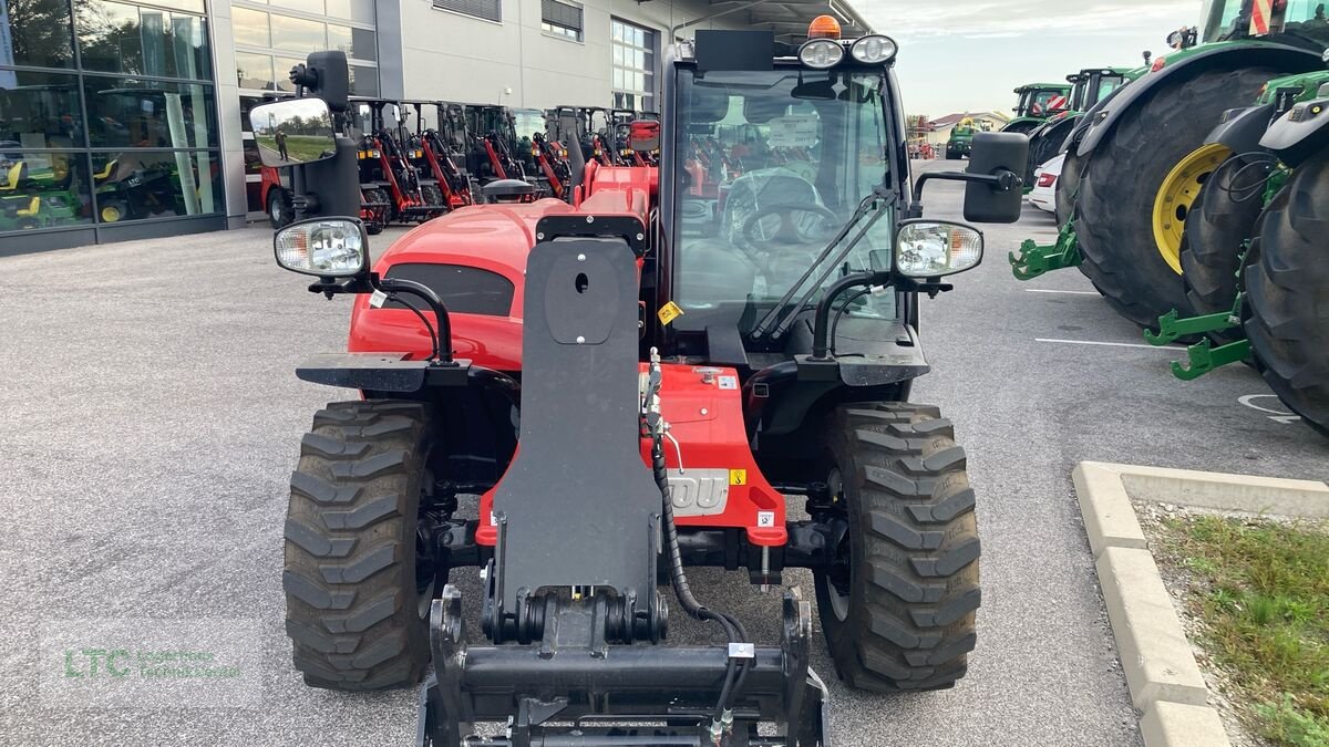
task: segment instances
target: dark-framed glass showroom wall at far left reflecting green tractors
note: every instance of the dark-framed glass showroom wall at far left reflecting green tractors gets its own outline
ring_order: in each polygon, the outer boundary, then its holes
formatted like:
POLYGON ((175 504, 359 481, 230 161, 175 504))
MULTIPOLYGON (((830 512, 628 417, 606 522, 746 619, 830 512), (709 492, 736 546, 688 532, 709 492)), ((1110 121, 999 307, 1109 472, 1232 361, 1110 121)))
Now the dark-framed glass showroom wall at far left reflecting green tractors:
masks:
POLYGON ((223 213, 202 0, 0 0, 0 237, 223 213))

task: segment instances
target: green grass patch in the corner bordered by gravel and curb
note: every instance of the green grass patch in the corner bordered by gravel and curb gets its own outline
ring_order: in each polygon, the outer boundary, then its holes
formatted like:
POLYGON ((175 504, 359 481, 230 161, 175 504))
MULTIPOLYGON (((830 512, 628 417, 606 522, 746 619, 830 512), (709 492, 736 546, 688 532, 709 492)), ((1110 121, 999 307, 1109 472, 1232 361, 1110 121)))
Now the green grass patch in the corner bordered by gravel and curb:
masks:
POLYGON ((1193 516, 1163 532, 1251 726, 1277 744, 1329 744, 1329 526, 1193 516))

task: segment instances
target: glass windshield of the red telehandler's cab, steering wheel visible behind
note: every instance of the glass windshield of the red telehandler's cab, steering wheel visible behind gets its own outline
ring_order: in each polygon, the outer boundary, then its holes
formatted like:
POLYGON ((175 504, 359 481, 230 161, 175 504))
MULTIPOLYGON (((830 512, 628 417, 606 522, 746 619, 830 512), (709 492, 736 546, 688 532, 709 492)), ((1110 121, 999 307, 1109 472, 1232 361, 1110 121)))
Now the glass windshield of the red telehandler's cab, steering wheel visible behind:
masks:
MULTIPOLYGON (((890 183, 886 85, 882 70, 679 70, 674 300, 688 326, 716 315, 751 326, 807 290, 816 303, 844 274, 869 270, 874 250, 889 253, 894 221, 859 211, 890 183), (827 259, 800 284, 820 257, 839 254, 847 242, 827 246, 851 222, 851 238, 870 229, 843 263, 827 259)), ((892 210, 885 202, 873 213, 892 210)), ((869 296, 849 314, 894 318, 894 296, 869 296)))

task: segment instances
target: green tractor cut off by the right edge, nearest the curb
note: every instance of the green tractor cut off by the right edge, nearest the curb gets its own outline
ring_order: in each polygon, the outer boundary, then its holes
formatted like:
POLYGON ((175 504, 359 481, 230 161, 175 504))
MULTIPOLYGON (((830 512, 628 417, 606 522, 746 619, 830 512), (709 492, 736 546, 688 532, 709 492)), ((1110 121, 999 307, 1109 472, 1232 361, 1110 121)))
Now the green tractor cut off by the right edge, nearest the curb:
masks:
POLYGON ((1247 360, 1329 435, 1329 70, 1268 81, 1255 106, 1224 112, 1204 148, 1231 153, 1205 179, 1181 235, 1187 300, 1146 331, 1154 344, 1204 335, 1179 379, 1247 360), (1322 117, 1324 114, 1324 117, 1322 117), (1225 149, 1225 150, 1217 150, 1225 149))

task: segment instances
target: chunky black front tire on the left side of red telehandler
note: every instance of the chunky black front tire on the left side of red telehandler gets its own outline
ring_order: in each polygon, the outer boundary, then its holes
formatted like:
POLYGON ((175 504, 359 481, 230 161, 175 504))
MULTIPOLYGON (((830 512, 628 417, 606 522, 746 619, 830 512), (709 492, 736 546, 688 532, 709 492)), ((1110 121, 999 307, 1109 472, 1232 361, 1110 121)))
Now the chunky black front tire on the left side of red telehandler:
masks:
POLYGON ((314 416, 291 475, 282 580, 307 685, 409 687, 425 671, 439 576, 417 577, 416 534, 429 445, 419 403, 332 403, 314 416))

